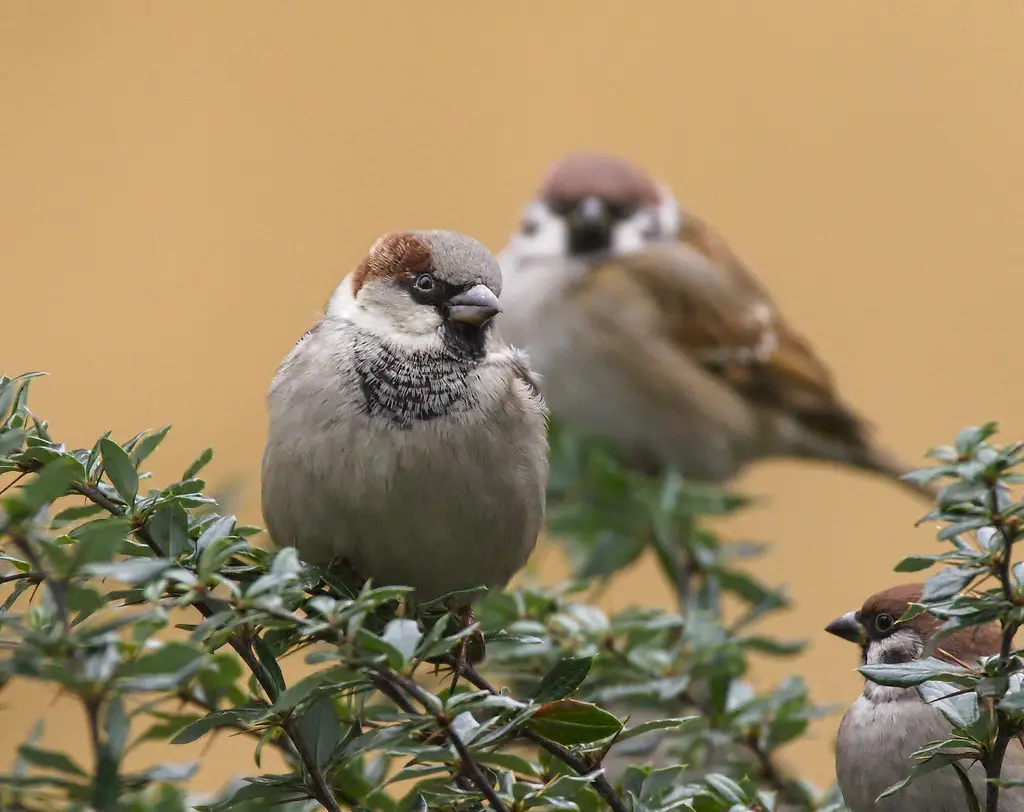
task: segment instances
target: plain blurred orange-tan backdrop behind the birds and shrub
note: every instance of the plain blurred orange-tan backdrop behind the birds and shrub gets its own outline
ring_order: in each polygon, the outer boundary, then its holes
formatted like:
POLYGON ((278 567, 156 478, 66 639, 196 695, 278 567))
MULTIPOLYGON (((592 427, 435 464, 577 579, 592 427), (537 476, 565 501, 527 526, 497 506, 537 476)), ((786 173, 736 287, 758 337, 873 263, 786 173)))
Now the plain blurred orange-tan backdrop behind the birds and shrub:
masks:
MULTIPOLYGON (((600 149, 725 233, 904 456, 990 418, 1016 439, 1022 32, 1012 0, 3 0, 0 371, 52 373, 35 404, 69 444, 173 423, 158 479, 215 445, 258 522, 266 385, 374 239, 498 250, 551 160, 600 149)), ((770 631, 846 704, 856 652, 821 628, 934 544, 920 506, 809 464, 739 486, 767 504, 724 530, 774 544, 757 567, 796 604, 770 631)), ((670 603, 649 564, 610 600, 670 603)), ((47 712, 85 746, 52 698, 4 692, 0 763, 47 712)), ((821 783, 838 719, 788 753, 821 783)), ((252 768, 216 747, 200 786, 252 768)))

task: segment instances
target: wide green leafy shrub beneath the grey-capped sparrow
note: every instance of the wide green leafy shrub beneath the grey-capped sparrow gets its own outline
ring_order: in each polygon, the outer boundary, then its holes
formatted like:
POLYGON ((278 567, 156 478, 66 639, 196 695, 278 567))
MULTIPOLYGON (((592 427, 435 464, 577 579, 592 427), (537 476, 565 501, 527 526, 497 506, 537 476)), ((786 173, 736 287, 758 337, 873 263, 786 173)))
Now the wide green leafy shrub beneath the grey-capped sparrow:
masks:
POLYGON ((575 579, 487 595, 466 628, 442 602, 406 616, 404 588, 349 589, 293 549, 253 544, 258 528, 204 494, 209 450, 148 487, 167 427, 69 451, 30 410, 31 377, 0 379, 0 683, 74 697, 91 747, 44 747, 37 729, 0 775, 0 808, 840 808, 778 759, 821 713, 803 682, 764 694, 743 682, 753 654, 800 648, 753 629, 786 606, 737 568, 762 548, 702 524, 744 500, 633 473, 554 431, 551 529, 575 579), (585 600, 648 548, 677 610, 609 614, 585 600), (487 676, 467 665, 453 680, 477 631, 487 676), (290 655, 309 668, 289 683, 290 655), (225 729, 251 737, 256 772, 213 798, 190 795, 195 764, 126 766, 142 742, 225 729), (267 747, 286 772, 263 772, 267 747))

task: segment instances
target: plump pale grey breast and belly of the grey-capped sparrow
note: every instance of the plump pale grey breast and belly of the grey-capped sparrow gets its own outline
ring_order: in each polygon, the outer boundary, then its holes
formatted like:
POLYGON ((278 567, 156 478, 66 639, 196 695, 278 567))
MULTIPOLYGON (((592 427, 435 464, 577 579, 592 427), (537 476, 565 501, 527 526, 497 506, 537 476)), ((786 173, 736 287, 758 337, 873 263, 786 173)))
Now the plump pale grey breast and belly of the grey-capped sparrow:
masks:
POLYGON ((546 471, 543 411, 513 397, 513 376, 344 327, 311 336, 271 394, 274 542, 426 597, 504 586, 537 540, 546 471))

